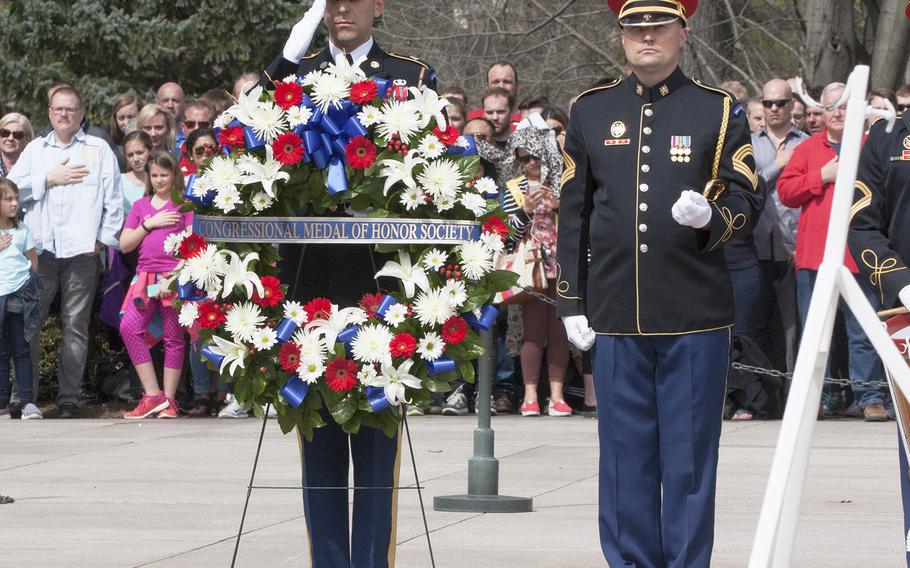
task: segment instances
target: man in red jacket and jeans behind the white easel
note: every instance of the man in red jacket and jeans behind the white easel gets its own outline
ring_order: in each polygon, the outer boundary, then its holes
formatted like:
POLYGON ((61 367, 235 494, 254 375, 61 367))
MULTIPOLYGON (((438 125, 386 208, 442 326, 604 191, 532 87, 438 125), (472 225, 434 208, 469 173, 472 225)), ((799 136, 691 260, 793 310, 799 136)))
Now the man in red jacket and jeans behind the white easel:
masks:
MULTIPOLYGON (((809 312, 818 267, 825 254, 828 218, 831 215, 831 202, 834 198, 834 181, 837 179, 847 103, 835 105, 843 93, 843 83, 831 83, 825 87, 821 96, 821 103, 825 109, 825 129, 796 148, 790 163, 781 172, 777 181, 777 193, 781 203, 787 207, 801 208, 796 236, 796 295, 803 328, 809 312)), ((859 270, 849 251, 846 252, 844 262, 850 272, 858 275, 859 270)), ((879 300, 868 281, 859 277, 857 281, 869 302, 877 308, 879 300)), ((882 381, 884 371, 872 343, 849 310, 844 312, 844 317, 850 348, 850 380, 882 381)), ((862 409, 866 422, 888 420, 882 389, 856 384, 852 389, 855 402, 862 409)))

